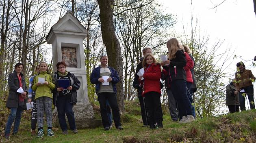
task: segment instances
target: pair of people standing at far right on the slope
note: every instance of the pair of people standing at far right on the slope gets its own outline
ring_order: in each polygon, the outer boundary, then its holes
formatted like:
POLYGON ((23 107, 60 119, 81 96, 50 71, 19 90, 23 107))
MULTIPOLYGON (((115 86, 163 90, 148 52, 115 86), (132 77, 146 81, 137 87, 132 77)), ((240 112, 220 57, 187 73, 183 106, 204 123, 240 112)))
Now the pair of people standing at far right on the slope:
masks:
POLYGON ((241 111, 246 110, 246 96, 248 96, 250 109, 255 109, 252 84, 255 81, 255 77, 251 70, 245 69, 243 62, 236 63, 236 68, 235 79, 226 86, 226 105, 230 113, 239 112, 239 106, 241 111))

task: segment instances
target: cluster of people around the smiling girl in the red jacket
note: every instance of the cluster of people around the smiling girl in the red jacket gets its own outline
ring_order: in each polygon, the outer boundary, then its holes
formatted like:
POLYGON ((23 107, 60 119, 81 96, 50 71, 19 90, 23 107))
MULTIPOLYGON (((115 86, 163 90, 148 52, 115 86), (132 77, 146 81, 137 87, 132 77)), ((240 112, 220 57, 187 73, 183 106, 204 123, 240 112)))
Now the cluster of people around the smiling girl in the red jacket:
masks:
POLYGON ((163 128, 160 79, 165 80, 172 120, 180 120, 180 123, 195 120, 195 108, 191 95, 195 92, 196 86, 191 51, 188 46, 181 45, 176 38, 167 41, 167 49, 168 59, 158 63, 152 55, 152 49, 143 48, 144 57, 137 65, 133 80, 133 87, 137 88, 141 106, 143 126, 149 125, 150 129, 163 128), (139 76, 137 73, 141 68, 144 69, 144 73, 139 76), (193 90, 191 90, 192 85, 193 90))

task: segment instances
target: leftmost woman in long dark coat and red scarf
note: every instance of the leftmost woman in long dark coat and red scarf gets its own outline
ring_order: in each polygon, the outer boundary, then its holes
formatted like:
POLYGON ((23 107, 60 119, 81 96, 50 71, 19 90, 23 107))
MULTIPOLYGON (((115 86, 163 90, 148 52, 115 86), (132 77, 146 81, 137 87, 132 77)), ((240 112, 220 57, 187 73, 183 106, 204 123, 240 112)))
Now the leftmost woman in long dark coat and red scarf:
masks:
POLYGON ((18 132, 22 111, 26 109, 26 95, 28 94, 25 77, 21 73, 23 70, 23 64, 17 63, 14 67, 15 70, 8 76, 9 96, 7 98, 6 107, 11 109, 11 113, 8 116, 4 131, 4 137, 6 139, 9 139, 13 120, 13 135, 16 135, 18 132))

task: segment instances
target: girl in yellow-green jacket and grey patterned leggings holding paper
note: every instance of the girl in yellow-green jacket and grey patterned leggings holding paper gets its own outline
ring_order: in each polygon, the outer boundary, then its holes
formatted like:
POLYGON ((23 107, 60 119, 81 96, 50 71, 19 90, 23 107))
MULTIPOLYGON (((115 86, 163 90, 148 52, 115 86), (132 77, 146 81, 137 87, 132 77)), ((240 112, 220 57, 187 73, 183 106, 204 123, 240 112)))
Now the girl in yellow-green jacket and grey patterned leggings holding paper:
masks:
POLYGON ((48 65, 46 62, 39 64, 40 73, 35 76, 33 80, 32 89, 35 91, 35 101, 37 103, 37 124, 38 132, 37 137, 43 137, 43 114, 46 113, 47 121, 47 135, 52 137, 54 132, 52 131, 52 90, 55 88, 55 84, 52 80, 52 75, 48 72, 48 65), (43 78, 45 82, 39 82, 39 79, 43 78))

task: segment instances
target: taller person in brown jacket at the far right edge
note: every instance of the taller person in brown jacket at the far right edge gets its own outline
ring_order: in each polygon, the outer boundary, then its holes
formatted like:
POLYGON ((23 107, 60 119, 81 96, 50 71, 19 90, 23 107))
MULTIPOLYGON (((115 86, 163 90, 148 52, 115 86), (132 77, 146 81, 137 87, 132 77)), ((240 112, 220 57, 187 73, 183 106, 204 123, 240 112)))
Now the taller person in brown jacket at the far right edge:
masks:
POLYGON ((243 62, 236 63, 237 72, 235 74, 236 79, 236 88, 239 91, 239 102, 241 111, 245 109, 245 99, 248 95, 249 104, 251 109, 255 109, 254 104, 254 88, 252 82, 254 82, 255 77, 252 74, 252 71, 245 69, 245 64, 243 62), (244 91, 242 91, 244 90, 244 91), (245 95, 243 96, 243 93, 245 95))

